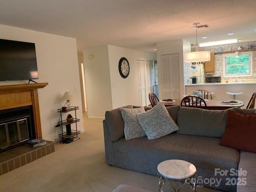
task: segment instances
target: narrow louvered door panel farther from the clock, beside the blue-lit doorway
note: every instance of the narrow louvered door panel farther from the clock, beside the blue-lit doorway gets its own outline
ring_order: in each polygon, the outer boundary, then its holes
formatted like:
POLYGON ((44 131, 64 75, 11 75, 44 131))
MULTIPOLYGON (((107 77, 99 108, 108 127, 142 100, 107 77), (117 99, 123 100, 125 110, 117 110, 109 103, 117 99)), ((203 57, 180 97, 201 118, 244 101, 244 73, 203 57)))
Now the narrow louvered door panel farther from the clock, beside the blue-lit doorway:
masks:
POLYGON ((154 67, 152 61, 146 61, 146 74, 147 74, 147 81, 146 81, 146 98, 147 98, 147 105, 150 105, 150 100, 148 97, 149 93, 154 92, 154 67))

